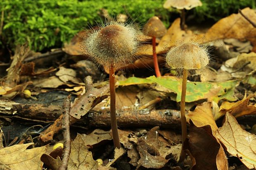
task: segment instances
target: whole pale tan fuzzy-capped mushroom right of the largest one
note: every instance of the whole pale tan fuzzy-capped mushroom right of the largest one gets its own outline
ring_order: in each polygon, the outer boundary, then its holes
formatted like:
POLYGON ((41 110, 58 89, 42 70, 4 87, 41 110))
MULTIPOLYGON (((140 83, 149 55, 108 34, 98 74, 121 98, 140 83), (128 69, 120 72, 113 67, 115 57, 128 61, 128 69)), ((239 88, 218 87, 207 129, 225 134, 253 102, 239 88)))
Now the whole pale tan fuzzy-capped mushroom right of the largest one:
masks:
MULTIPOLYGON (((197 44, 185 43, 172 48, 166 55, 166 62, 169 66, 183 70, 182 91, 180 100, 180 121, 182 129, 182 145, 187 138, 187 125, 185 117, 185 99, 187 91, 188 72, 203 69, 209 63, 209 54, 206 48, 197 44)), ((185 152, 182 147, 180 161, 185 159, 185 152)))

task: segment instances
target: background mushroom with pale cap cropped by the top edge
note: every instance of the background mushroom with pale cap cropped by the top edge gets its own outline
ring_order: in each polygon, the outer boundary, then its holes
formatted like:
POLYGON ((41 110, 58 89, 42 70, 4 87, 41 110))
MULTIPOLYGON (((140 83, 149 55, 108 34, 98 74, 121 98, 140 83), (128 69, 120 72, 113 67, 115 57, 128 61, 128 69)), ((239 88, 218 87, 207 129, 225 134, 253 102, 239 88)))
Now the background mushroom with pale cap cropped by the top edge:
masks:
POLYGON ((164 3, 164 8, 170 9, 171 7, 180 9, 181 22, 180 28, 185 30, 185 9, 190 10, 194 7, 201 7, 202 2, 200 0, 166 0, 164 3))

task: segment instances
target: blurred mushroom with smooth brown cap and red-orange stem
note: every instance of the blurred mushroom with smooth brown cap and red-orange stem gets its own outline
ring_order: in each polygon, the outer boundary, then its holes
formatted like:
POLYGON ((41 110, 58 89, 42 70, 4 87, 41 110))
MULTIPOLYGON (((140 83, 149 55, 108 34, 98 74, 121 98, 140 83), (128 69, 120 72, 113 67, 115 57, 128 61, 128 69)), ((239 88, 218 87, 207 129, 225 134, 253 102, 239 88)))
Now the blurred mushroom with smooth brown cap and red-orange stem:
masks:
POLYGON ((156 38, 163 37, 164 34, 166 34, 166 28, 162 21, 157 16, 153 16, 144 26, 144 34, 149 37, 152 37, 153 60, 156 77, 161 77, 156 56, 156 38))

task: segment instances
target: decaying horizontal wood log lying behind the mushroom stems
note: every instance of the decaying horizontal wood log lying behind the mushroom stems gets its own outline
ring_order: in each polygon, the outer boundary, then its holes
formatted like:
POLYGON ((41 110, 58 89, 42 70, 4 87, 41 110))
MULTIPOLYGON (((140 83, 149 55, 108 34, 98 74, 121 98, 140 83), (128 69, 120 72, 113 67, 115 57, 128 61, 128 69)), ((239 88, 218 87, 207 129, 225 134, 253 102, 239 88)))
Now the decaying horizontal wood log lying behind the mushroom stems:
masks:
MULTIPOLYGON (((62 107, 0 100, 0 117, 50 123, 56 119, 62 119, 62 107)), ((180 127, 178 110, 117 110, 116 117, 119 127, 161 126, 175 129, 180 127)), ((78 120, 77 124, 86 127, 110 127, 109 110, 90 110, 87 115, 78 120)))

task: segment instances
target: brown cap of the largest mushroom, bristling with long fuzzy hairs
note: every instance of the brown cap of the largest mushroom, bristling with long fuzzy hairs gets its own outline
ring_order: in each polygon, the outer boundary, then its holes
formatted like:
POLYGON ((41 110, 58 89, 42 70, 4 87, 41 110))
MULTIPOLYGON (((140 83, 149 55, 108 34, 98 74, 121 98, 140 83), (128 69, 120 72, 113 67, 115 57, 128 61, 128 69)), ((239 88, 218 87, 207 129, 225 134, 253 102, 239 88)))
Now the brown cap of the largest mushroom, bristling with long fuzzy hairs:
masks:
POLYGON ((111 22, 90 30, 81 45, 97 64, 105 69, 114 64, 119 69, 133 61, 138 47, 137 30, 132 25, 111 22))

